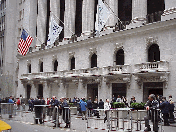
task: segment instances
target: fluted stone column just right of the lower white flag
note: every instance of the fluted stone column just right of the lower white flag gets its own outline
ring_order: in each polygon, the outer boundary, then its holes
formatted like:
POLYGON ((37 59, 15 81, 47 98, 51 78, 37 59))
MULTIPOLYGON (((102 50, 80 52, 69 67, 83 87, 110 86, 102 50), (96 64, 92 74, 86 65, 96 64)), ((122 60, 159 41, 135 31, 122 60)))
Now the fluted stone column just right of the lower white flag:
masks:
POLYGON ((75 14, 76 0, 65 0, 64 38, 71 38, 72 32, 75 33, 75 14))

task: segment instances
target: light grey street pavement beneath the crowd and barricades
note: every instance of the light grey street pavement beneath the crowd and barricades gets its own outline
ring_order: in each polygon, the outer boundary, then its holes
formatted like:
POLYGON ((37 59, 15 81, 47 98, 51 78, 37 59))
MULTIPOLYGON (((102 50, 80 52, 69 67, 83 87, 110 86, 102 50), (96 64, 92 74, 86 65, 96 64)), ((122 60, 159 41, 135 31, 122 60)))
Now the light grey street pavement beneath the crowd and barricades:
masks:
MULTIPOLYGON (((2 115, 2 120, 7 122, 9 125, 12 126, 12 132, 60 132, 60 131, 77 131, 77 132, 105 132, 108 131, 107 128, 107 122, 104 123, 104 116, 101 116, 100 118, 91 117, 87 120, 82 120, 81 116, 72 115, 71 116, 71 128, 64 128, 65 123, 60 118, 60 128, 54 128, 53 129, 53 123, 51 122, 45 122, 44 125, 37 125, 34 124, 34 112, 17 112, 16 116, 13 116, 12 119, 8 119, 8 115, 2 115), (87 129, 87 125, 88 128, 87 129)), ((49 119, 49 117, 46 117, 46 119, 49 119)), ((112 125, 114 125, 116 122, 112 122, 112 125)), ((138 129, 140 129, 141 125, 141 131, 143 131, 145 124, 144 121, 141 121, 138 124, 138 129), (140 124, 141 123, 141 124, 140 124)), ((132 120, 132 127, 133 131, 137 130, 137 122, 135 120, 132 120)), ((161 125, 159 126, 161 130, 161 125)), ((131 128, 131 122, 128 119, 124 120, 124 130, 122 119, 120 119, 119 122, 119 130, 118 131, 127 131, 128 128, 131 128)), ((113 128, 114 129, 114 128, 113 128)), ((172 126, 163 126, 162 127, 164 132, 176 132, 176 123, 172 124, 172 126)))

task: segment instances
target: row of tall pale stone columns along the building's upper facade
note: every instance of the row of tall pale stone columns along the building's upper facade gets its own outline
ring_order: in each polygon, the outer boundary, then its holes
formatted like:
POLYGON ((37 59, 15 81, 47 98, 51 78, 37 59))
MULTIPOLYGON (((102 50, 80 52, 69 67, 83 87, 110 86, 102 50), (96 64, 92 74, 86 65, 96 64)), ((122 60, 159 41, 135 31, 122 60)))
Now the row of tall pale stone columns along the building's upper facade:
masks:
MULTIPOLYGON (((113 27, 118 22, 118 0, 105 0, 110 9, 114 12, 106 23, 107 27, 113 27)), ((106 4, 105 4, 106 5, 106 4)), ((176 7, 174 0, 165 1, 166 9, 176 7)), ((59 18, 60 0, 50 0, 51 11, 59 18)), ((80 7, 81 8, 81 7, 80 7)), ((46 10, 47 0, 38 0, 37 37, 45 42, 46 32, 46 10)), ((94 0, 83 0, 82 3, 82 33, 89 34, 94 30, 94 0)), ((65 0, 64 15, 64 38, 70 38, 75 33, 76 0, 65 0)), ((146 20, 147 0, 132 0, 132 23, 146 20)), ((134 24, 133 24, 134 25, 134 24)), ((135 25, 134 25, 135 26, 135 25)), ((41 42, 39 42, 41 44, 41 42)))

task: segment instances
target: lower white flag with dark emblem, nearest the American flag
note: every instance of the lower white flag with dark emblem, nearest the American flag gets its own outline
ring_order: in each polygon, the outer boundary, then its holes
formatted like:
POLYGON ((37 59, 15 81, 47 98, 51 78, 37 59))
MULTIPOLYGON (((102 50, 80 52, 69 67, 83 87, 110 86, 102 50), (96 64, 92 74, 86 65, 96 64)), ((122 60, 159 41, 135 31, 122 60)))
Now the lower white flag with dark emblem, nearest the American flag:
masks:
POLYGON ((62 32, 62 29, 63 27, 59 26, 54 20, 53 16, 51 16, 47 46, 55 42, 56 38, 62 32))

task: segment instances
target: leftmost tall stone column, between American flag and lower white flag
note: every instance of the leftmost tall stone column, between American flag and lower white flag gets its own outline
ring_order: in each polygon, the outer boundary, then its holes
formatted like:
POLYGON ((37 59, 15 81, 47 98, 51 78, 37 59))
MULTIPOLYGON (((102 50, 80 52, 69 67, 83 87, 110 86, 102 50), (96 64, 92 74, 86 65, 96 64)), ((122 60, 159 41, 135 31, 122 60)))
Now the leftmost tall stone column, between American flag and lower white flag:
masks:
POLYGON ((38 0, 37 45, 45 43, 47 22, 47 0, 38 0))

